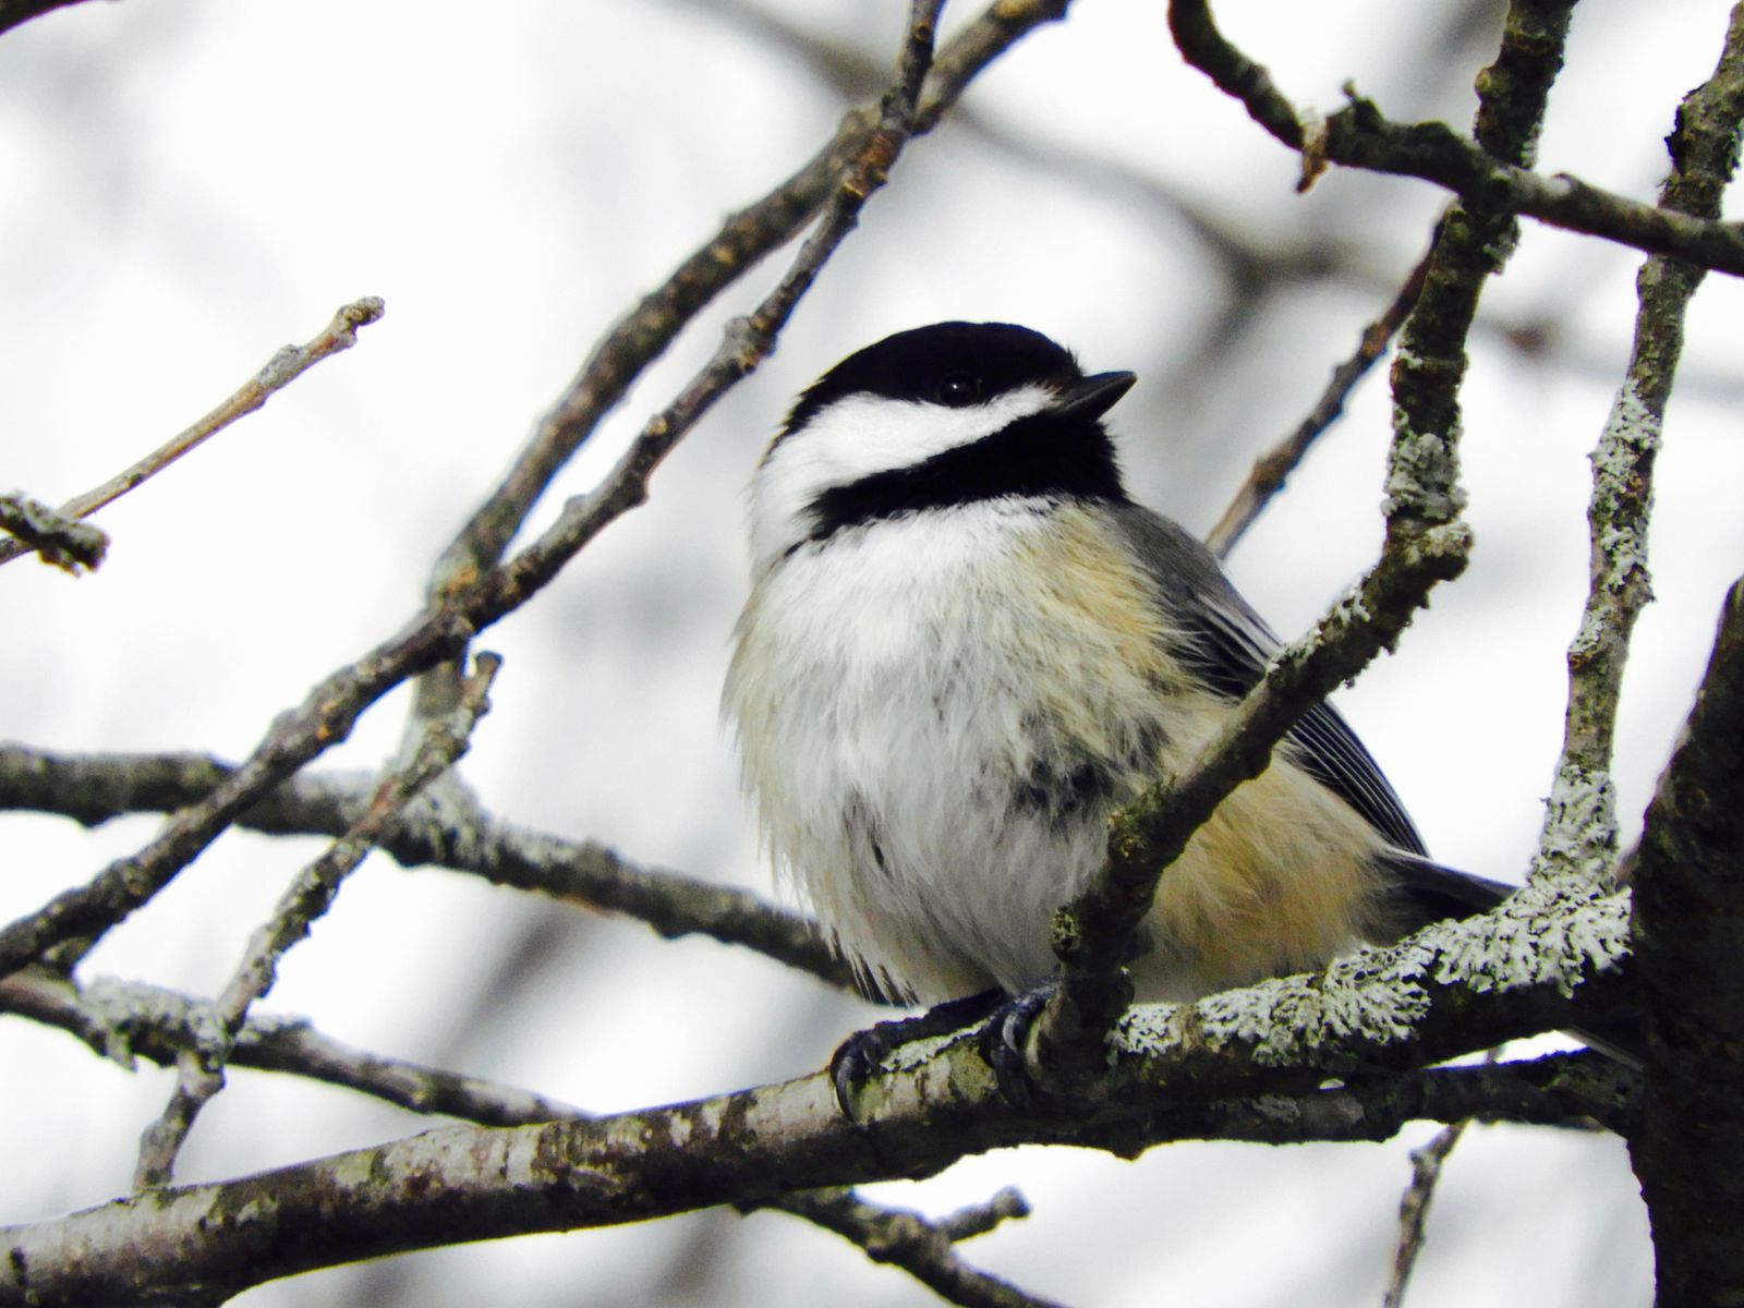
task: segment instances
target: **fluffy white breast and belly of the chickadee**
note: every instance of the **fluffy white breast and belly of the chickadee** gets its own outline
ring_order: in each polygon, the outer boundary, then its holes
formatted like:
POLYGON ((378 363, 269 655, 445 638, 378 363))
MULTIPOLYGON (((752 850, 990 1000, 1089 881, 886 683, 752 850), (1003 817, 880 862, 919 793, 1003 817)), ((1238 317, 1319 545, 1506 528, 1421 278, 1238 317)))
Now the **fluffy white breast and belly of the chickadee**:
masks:
POLYGON ((1104 807, 1039 800, 1083 766, 1130 794, 1170 710, 1139 589, 1043 501, 875 521, 762 577, 726 712, 778 863, 869 970, 923 998, 1046 975, 1104 807))

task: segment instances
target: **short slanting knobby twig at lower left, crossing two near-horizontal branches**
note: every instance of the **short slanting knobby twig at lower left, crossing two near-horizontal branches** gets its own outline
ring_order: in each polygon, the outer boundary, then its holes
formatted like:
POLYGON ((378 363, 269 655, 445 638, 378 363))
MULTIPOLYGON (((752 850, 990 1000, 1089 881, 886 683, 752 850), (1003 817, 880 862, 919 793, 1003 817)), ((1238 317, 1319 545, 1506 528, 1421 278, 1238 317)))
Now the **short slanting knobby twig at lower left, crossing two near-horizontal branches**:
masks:
POLYGON ((424 739, 413 755, 403 766, 391 769, 377 785, 370 811, 345 832, 344 839, 296 875, 272 917, 255 931, 241 966, 215 1005, 218 1022, 213 1039, 176 1057, 176 1088, 162 1114, 140 1141, 134 1189, 169 1184, 176 1155, 194 1128, 194 1120, 223 1088, 223 1069, 248 1022, 248 1010, 272 989, 284 954, 333 907, 345 877, 375 848, 394 814, 466 753, 478 719, 488 712, 487 696, 501 661, 494 654, 476 656, 459 710, 426 726, 424 739))

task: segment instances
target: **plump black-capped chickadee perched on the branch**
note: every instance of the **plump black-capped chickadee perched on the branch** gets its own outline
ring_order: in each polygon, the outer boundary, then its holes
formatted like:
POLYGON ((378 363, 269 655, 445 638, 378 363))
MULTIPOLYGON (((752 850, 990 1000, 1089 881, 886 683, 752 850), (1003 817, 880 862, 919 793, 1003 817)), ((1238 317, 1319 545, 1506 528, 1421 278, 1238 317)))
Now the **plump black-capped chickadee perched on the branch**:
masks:
MULTIPOLYGON (((722 712, 778 867, 869 989, 1048 978, 1107 816, 1179 769, 1278 640, 1216 558, 1128 499, 1046 337, 938 323, 849 356, 752 483, 722 712)), ((1291 731, 1163 874, 1132 959, 1186 1001, 1324 964, 1510 888, 1442 869, 1336 710, 1291 731)))

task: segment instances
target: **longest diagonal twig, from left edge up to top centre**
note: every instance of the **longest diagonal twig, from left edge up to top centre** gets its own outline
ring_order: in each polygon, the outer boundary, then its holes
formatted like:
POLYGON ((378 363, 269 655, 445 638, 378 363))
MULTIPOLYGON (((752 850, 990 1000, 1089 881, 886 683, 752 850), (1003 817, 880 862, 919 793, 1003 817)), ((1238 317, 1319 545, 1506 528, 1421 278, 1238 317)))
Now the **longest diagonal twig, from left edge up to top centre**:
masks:
MULTIPOLYGON (((912 94, 893 98, 886 117, 930 126, 963 85, 1038 23, 1062 12, 1060 0, 999 0, 952 44, 938 91, 916 112, 912 94), (907 117, 900 110, 907 110, 907 117)), ((907 89, 905 89, 907 91, 907 89)), ((607 523, 642 502, 647 478, 689 426, 736 380, 757 364, 787 321, 794 300, 811 284, 821 260, 853 227, 865 195, 882 183, 907 127, 875 127, 863 148, 842 164, 832 218, 807 241, 790 274, 748 319, 736 324, 715 359, 684 394, 654 417, 607 481, 572 501, 558 521, 508 563, 483 574, 460 570, 448 596, 403 631, 321 682, 279 717, 242 766, 201 804, 181 809, 140 853, 110 863, 85 886, 65 891, 33 914, 0 928, 0 977, 63 942, 89 942, 169 884, 255 799, 323 750, 351 734, 358 717, 408 677, 455 659, 473 635, 530 600, 607 523)), ((682 274, 682 270, 680 270, 682 274)), ((65 952, 65 950, 58 950, 65 952)), ((77 950, 75 950, 77 952, 77 950)))

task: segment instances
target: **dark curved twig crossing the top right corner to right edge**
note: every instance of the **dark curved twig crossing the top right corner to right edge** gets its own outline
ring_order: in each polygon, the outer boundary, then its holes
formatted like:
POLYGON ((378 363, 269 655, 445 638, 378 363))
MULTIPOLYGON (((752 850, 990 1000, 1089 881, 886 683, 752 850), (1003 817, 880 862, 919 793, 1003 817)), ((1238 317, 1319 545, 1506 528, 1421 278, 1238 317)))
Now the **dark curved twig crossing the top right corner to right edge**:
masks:
MULTIPOLYGON (((1568 3, 1526 9, 1566 10, 1568 3)), ((1205 0, 1172 0, 1168 23, 1188 63, 1247 105, 1254 120, 1284 145, 1305 148, 1305 126, 1289 98, 1261 65, 1223 38, 1205 0)), ((1324 157, 1334 164, 1421 178, 1484 209, 1521 213, 1650 255, 1672 255, 1716 272, 1744 276, 1744 227, 1739 223, 1655 209, 1589 187, 1566 173, 1540 176, 1446 124, 1390 122, 1371 101, 1348 89, 1346 94, 1350 103, 1325 117, 1325 131, 1317 136, 1324 157)))

